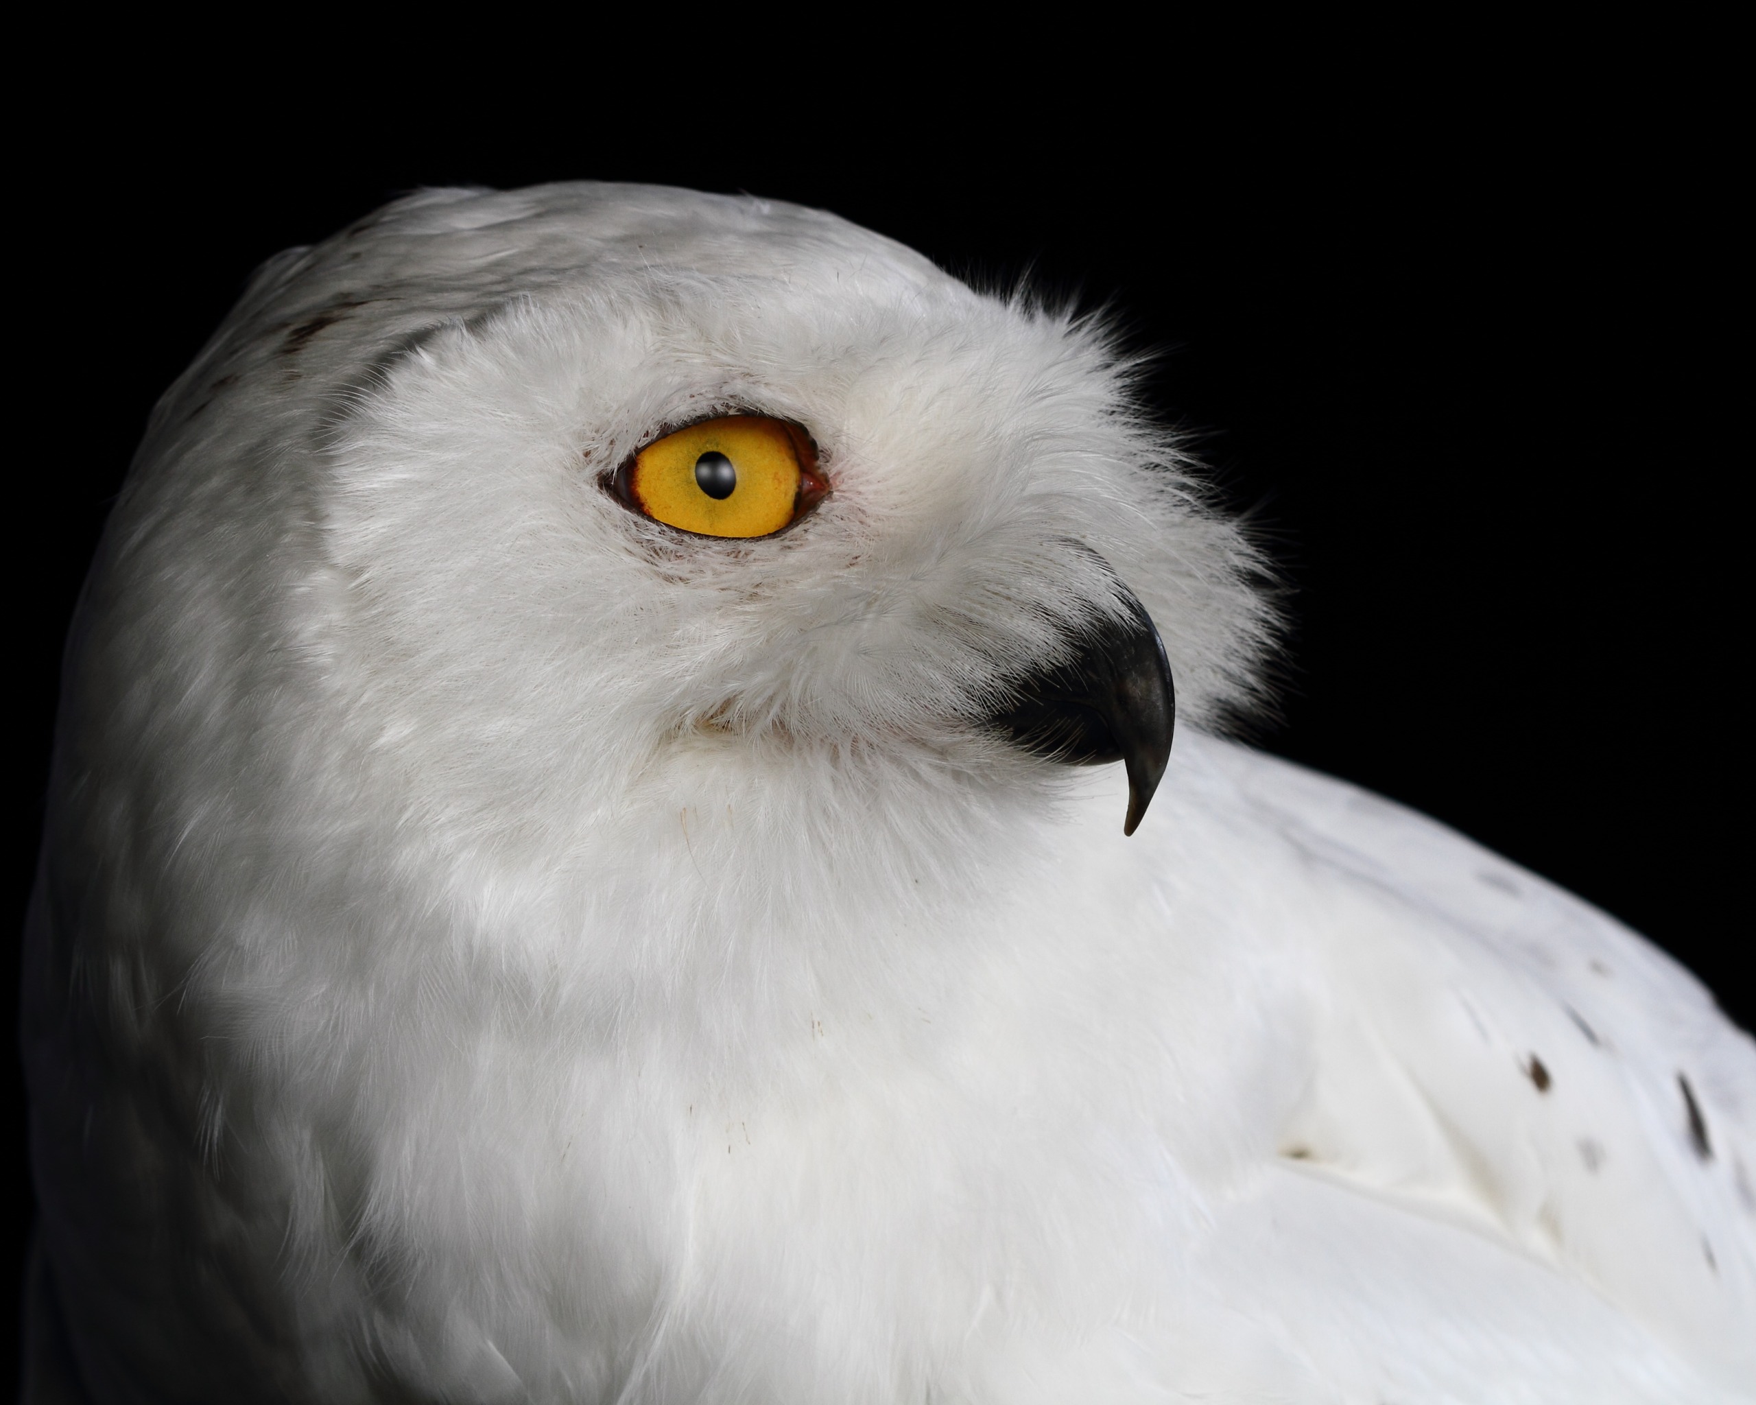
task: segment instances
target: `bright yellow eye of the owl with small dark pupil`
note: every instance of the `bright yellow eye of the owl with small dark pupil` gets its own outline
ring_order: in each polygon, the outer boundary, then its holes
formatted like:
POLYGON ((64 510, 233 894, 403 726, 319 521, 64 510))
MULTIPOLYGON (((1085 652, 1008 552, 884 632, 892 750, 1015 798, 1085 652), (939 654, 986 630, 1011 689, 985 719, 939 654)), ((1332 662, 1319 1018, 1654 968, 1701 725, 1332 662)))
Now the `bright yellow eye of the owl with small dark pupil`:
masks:
POLYGON ((630 508, 683 532, 766 537, 829 485, 802 429, 760 414, 727 414, 650 443, 616 472, 616 492, 630 508))

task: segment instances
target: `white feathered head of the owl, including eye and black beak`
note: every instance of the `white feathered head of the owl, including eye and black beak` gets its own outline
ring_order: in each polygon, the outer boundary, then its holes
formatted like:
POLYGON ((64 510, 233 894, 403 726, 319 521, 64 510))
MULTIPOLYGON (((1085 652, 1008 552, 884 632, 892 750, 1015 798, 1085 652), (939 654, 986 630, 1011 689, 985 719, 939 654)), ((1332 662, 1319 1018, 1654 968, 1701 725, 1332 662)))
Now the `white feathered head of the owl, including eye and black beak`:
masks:
POLYGON ((202 824, 529 871, 692 808, 943 857, 1069 759, 1127 760, 1133 829, 1171 680, 1212 725, 1271 620, 1131 372, 818 211, 414 195, 272 260, 156 409, 72 731, 202 824))

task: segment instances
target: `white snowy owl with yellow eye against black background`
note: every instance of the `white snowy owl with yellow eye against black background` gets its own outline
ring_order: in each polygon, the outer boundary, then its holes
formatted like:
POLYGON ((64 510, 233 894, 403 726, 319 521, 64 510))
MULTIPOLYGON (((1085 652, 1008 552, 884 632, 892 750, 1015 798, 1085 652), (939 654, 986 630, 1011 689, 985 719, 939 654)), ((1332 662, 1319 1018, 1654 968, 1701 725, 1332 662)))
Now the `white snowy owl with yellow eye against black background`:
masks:
POLYGON ((68 643, 35 1398, 1756 1396, 1756 1047, 1220 738, 1259 564, 1129 393, 755 198, 265 265, 68 643))

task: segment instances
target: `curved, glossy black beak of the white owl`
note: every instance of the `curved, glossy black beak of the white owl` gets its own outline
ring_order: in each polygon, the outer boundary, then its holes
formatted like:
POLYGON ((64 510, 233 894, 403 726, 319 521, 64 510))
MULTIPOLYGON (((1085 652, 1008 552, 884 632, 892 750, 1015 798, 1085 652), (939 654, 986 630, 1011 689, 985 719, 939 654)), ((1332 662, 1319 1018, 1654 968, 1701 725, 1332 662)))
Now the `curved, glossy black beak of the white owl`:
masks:
POLYGON ((1020 746, 1069 766, 1127 766, 1127 818, 1140 827, 1171 759, 1177 687, 1147 608, 1117 583, 1127 618, 1105 622, 1078 655, 1013 683, 1018 702, 990 718, 1020 746))

